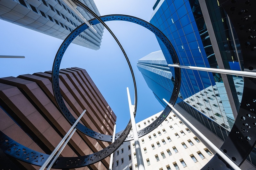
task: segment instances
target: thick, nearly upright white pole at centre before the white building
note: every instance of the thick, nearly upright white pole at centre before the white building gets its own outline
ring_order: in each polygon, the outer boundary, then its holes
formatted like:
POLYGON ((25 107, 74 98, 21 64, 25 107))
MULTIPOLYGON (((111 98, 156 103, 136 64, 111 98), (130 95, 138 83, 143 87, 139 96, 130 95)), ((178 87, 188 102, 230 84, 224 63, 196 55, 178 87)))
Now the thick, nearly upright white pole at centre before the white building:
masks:
POLYGON ((128 95, 128 103, 129 103, 129 109, 130 109, 130 115, 131 115, 132 132, 133 132, 133 139, 134 139, 134 144, 135 144, 135 152, 136 152, 138 170, 145 170, 142 153, 141 153, 141 149, 140 149, 140 141, 139 141, 139 137, 138 137, 138 131, 137 131, 136 123, 135 123, 135 119, 134 119, 134 106, 132 105, 132 102, 131 102, 131 96, 130 96, 128 87, 127 87, 127 95, 128 95))

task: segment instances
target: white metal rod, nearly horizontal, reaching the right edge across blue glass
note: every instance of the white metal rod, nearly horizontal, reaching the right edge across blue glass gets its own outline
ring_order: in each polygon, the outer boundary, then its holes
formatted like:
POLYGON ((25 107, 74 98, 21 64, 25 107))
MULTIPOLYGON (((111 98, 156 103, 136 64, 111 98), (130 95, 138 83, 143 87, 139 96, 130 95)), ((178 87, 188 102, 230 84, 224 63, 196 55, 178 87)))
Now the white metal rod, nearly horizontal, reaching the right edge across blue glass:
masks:
POLYGON ((249 72, 249 71, 212 69, 212 68, 206 68, 206 67, 181 66, 181 65, 176 65, 176 64, 168 64, 168 66, 169 67, 179 67, 179 68, 183 68, 183 69, 210 71, 210 72, 215 72, 215 73, 222 73, 222 74, 230 74, 230 75, 236 75, 236 76, 256 78, 256 73, 255 72, 249 72))

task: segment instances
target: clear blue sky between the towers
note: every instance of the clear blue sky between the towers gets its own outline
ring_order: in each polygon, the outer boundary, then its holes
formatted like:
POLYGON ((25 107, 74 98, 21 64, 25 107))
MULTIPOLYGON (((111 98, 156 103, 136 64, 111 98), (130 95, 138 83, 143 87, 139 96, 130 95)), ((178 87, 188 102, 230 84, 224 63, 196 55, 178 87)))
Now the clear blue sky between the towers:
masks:
MULTIPOLYGON (((94 0, 101 15, 127 14, 149 21, 155 0, 94 0)), ((135 73, 138 89, 136 122, 156 114, 163 107, 148 88, 136 63, 143 56, 160 50, 156 37, 145 28, 124 21, 106 23, 126 51, 135 73)), ((62 40, 0 20, 0 55, 24 55, 25 59, 1 59, 0 77, 33 74, 52 70, 55 54, 62 40)), ((104 29, 100 49, 95 51, 71 44, 60 68, 87 70, 94 83, 117 116, 116 132, 130 119, 126 87, 134 102, 132 76, 124 55, 113 37, 104 29)))

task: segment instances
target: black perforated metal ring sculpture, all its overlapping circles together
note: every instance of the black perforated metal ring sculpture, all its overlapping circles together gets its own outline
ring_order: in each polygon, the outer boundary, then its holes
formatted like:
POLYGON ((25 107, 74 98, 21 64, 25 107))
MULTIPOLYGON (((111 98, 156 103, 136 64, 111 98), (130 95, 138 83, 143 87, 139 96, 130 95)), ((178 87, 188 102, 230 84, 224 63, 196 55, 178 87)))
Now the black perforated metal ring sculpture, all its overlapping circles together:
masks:
MULTIPOLYGON (((90 9, 88 9, 84 4, 80 3, 79 1, 77 0, 73 0, 73 1, 84 10, 90 11, 90 9)), ((253 14, 255 13, 254 7, 256 6, 256 2, 249 1, 249 0, 247 1, 246 0, 244 1, 219 0, 219 2, 223 6, 225 11, 228 13, 229 18, 231 19, 236 29, 236 33, 241 44, 241 50, 244 56, 244 70, 255 72, 256 64, 255 64, 254 50, 256 50, 256 39, 255 39, 256 19, 253 14)), ((93 14, 93 12, 91 13, 93 14)), ((98 24, 100 22, 103 23, 98 16, 94 16, 94 17, 98 20, 92 19, 90 21, 92 25, 98 24)), ((123 21, 133 22, 146 27, 151 32, 155 33, 156 36, 158 36, 158 38, 160 38, 160 40, 164 42, 165 46, 170 52, 170 56, 172 58, 173 63, 179 64, 177 55, 173 50, 171 43, 163 35, 163 33, 161 33, 156 27, 152 26, 148 22, 143 21, 139 18, 126 16, 126 15, 108 15, 108 16, 102 16, 100 18, 104 22, 111 21, 111 20, 123 20, 123 21)), ((104 23, 103 25, 106 26, 104 23)), ((59 65, 60 65, 61 58, 66 48, 70 44, 70 42, 81 31, 84 31, 87 28, 88 26, 86 26, 85 24, 79 26, 78 28, 76 28, 76 30, 70 33, 68 38, 63 42, 62 46, 60 47, 56 55, 55 64, 57 69, 54 70, 55 72, 57 73, 59 72, 59 65)), ((107 29, 109 28, 107 27, 107 29)), ((110 30, 110 33, 114 36, 111 30, 110 30)), ((116 41, 118 40, 116 39, 116 41)), ((121 47, 121 45, 119 46, 121 47)), ((124 55, 126 56, 125 52, 124 52, 124 55)), ((55 67, 55 65, 53 67, 55 67)), ((54 79, 55 82, 53 83, 55 83, 58 86, 59 85, 58 74, 55 74, 55 72, 53 72, 53 75, 57 77, 55 77, 54 79)), ((235 124, 231 129, 231 132, 228 138, 226 139, 226 141, 221 147, 221 150, 231 160, 233 160, 234 163, 236 163, 236 165, 238 166, 244 162, 244 160, 252 151, 252 148, 256 143, 256 130, 255 130, 256 128, 256 118, 255 118, 256 117, 255 116, 256 88, 255 87, 256 87, 255 78, 246 78, 246 77, 244 78, 244 92, 243 92, 243 98, 241 101, 240 110, 238 112, 238 116, 236 118, 235 124)), ((170 99, 170 103, 172 105, 174 105, 177 99, 179 89, 180 89, 180 69, 175 68, 175 85, 174 85, 172 97, 170 99)), ((56 97, 58 100, 62 98, 60 93, 56 93, 56 94, 57 94, 56 97)), ((135 101, 135 105, 136 105, 136 101, 135 101)), ((150 131, 154 130, 159 124, 161 124, 162 121, 164 121, 164 119, 167 117, 170 111, 171 109, 169 107, 166 107, 163 113, 158 117, 158 119, 156 119, 155 122, 151 123, 147 128, 142 129, 138 132, 139 136, 146 135, 150 131)), ((72 120, 69 117, 71 114, 68 114, 68 110, 64 110, 63 113, 64 115, 67 116, 67 119, 70 120, 71 123, 75 122, 74 119, 72 120)), ((86 132, 89 133, 88 136, 91 136, 96 139, 102 140, 102 138, 104 138, 103 139, 104 141, 105 138, 108 138, 107 135, 104 136, 102 134, 97 134, 97 135, 90 134, 94 132, 91 131, 90 129, 86 129, 86 127, 82 125, 79 125, 76 128, 84 132, 85 134, 86 132)), ((113 144, 110 144, 107 148, 99 152, 93 153, 91 155, 86 155, 81 157, 60 157, 56 162, 56 164, 53 166, 53 168, 77 168, 77 167, 87 166, 87 165, 96 163, 101 159, 106 158, 112 152, 114 152, 122 144, 122 142, 132 139, 132 136, 127 138, 127 135, 130 129, 131 129, 131 121, 128 123, 127 127, 125 128, 124 132, 120 135, 120 137, 118 137, 116 141, 113 144)), ((5 153, 15 157, 16 159, 20 159, 24 162, 28 162, 30 164, 40 166, 44 163, 44 159, 46 159, 49 156, 46 154, 42 154, 42 153, 30 150, 29 148, 18 144, 17 142, 13 141, 11 138, 4 135, 2 132, 0 135, 1 135, 1 139, 0 139, 1 149, 5 153)), ((230 166, 223 159, 221 159, 218 154, 216 154, 202 169, 203 170, 230 169, 230 166)))

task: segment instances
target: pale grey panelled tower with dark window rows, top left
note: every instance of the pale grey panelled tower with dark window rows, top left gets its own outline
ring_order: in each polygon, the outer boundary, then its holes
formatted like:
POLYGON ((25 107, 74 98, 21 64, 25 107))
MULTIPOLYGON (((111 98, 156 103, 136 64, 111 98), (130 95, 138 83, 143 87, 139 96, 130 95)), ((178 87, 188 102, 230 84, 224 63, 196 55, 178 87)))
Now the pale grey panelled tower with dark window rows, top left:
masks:
MULTIPOLYGON (((100 13, 93 0, 81 0, 98 16, 100 13)), ((93 17, 77 7, 85 19, 93 17)), ((64 40, 71 31, 84 23, 62 0, 1 0, 0 19, 31 30, 64 40)), ((97 33, 86 29, 72 43, 100 49, 104 27, 101 24, 93 26, 97 33)))

